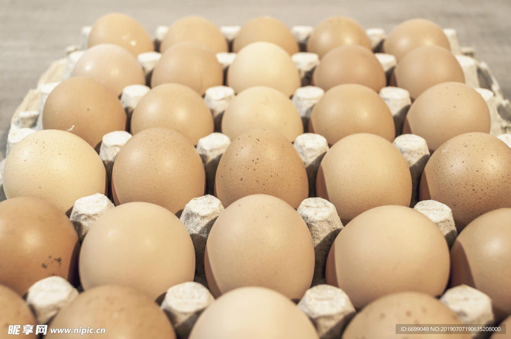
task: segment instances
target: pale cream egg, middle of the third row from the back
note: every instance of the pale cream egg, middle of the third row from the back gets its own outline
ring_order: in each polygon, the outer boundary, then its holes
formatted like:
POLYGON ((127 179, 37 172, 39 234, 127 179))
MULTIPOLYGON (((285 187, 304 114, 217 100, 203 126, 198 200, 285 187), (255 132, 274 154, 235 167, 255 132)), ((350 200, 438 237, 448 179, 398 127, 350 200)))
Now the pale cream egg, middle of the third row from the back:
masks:
POLYGON ((293 142, 304 133, 300 113, 293 102, 271 87, 250 87, 236 95, 222 117, 222 133, 231 140, 252 128, 269 128, 293 142))

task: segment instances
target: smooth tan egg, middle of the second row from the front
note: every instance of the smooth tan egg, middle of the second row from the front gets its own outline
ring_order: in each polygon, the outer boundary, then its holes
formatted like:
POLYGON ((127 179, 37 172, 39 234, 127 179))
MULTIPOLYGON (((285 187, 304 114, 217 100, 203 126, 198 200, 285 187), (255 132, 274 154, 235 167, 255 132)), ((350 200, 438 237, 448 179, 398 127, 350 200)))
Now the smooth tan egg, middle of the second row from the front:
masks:
POLYGON ((241 198, 215 221, 204 269, 215 298, 238 287, 261 286, 300 300, 314 274, 311 233, 285 201, 263 194, 241 198))

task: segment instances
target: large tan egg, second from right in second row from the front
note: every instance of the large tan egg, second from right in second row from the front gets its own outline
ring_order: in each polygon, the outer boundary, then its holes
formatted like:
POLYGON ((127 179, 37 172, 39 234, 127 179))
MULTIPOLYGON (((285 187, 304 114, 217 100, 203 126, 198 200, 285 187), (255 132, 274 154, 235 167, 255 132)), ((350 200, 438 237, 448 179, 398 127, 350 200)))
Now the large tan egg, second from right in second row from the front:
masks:
POLYGON ((356 309, 406 290, 439 296, 449 279, 449 248, 442 232, 421 212, 380 206, 359 214, 337 235, 326 278, 356 309))

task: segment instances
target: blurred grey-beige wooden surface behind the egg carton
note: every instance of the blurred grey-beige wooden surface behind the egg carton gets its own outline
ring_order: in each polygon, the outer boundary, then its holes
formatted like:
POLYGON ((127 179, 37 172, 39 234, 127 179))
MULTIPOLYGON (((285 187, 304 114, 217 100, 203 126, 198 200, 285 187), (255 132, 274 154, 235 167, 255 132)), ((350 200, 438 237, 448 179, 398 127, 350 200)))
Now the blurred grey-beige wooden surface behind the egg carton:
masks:
POLYGON ((186 15, 218 26, 271 15, 289 27, 346 15, 387 33, 403 20, 427 18, 455 28, 461 46, 475 47, 511 98, 511 0, 0 0, 0 159, 11 117, 27 91, 52 61, 65 56, 66 46, 80 42, 82 26, 113 11, 132 16, 153 37, 157 26, 186 15))

